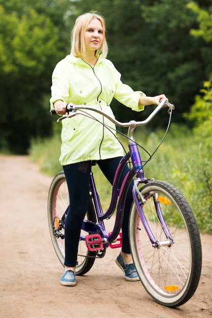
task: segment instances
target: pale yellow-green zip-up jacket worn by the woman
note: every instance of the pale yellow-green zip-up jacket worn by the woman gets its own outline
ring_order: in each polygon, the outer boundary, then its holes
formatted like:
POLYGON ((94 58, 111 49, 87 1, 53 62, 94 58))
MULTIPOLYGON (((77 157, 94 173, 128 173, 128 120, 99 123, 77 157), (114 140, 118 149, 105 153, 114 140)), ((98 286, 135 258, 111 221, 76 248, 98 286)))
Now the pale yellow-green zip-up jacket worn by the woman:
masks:
MULTIPOLYGON (((113 98, 132 110, 138 107, 142 91, 134 92, 121 82, 121 74, 113 63, 98 57, 94 67, 72 54, 57 63, 52 74, 51 108, 57 100, 76 105, 89 105, 99 108, 114 116, 110 103, 113 98)), ((115 129, 107 118, 93 111, 86 111, 100 122, 115 129)), ((105 128, 101 123, 83 115, 62 120, 61 154, 62 166, 89 160, 108 159, 123 155, 123 149, 115 136, 114 130, 105 128), (113 132, 113 133, 112 133, 113 132)))

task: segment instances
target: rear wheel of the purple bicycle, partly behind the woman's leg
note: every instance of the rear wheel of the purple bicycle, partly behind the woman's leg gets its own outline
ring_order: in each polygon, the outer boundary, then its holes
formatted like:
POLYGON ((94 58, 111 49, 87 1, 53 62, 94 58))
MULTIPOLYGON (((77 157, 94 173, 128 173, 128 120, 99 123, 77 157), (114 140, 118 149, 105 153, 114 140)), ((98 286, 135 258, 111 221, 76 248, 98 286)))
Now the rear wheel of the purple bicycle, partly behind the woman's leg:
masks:
MULTIPOLYGON (((65 211, 67 212, 69 205, 69 195, 67 183, 65 180, 64 172, 59 172, 49 188, 48 196, 48 223, 51 240, 54 246, 56 255, 64 266, 65 257, 65 238, 64 238, 64 223, 65 211)), ((86 213, 86 219, 95 221, 95 211, 91 198, 89 199, 89 206, 86 213)), ((81 231, 83 232, 83 231, 81 231)), ((81 233, 82 237, 87 235, 86 232, 81 233)), ((95 261, 95 252, 88 251, 85 240, 79 241, 78 257, 76 266, 76 275, 83 275, 87 273, 95 261)))

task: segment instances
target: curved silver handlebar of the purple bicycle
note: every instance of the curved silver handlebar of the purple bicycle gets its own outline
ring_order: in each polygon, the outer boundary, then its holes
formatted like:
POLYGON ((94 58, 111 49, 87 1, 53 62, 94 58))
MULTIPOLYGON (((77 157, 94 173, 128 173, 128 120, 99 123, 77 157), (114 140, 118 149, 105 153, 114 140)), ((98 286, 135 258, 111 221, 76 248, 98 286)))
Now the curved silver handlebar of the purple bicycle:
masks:
MULTIPOLYGON (((144 125, 148 124, 163 107, 169 107, 169 109, 168 109, 169 114, 175 108, 173 104, 168 103, 165 99, 161 99, 160 104, 153 110, 153 112, 149 115, 149 117, 147 119, 145 119, 143 121, 131 120, 129 122, 120 122, 120 121, 116 120, 115 118, 112 118, 108 114, 104 113, 100 109, 96 109, 94 107, 90 107, 87 105, 75 105, 73 103, 69 103, 66 105, 66 113, 68 113, 68 114, 63 115, 57 121, 60 121, 64 118, 70 118, 70 117, 73 117, 75 115, 79 115, 80 113, 77 112, 77 110, 86 109, 86 110, 95 111, 95 112, 107 117, 110 121, 112 121, 115 125, 117 125, 119 127, 132 127, 132 126, 134 126, 134 128, 135 128, 136 126, 144 126, 144 125)), ((55 109, 51 109, 50 113, 52 116, 56 115, 55 109)))

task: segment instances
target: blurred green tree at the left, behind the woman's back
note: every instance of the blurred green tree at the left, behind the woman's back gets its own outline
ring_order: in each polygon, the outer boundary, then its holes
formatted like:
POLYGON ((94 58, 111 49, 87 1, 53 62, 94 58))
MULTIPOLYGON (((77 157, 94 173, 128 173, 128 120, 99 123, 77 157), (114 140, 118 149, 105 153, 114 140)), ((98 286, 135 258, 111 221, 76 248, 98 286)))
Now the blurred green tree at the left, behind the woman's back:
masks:
POLYGON ((0 5, 0 148, 23 153, 31 137, 51 132, 43 99, 56 63, 58 31, 34 9, 20 14, 5 4, 10 1, 0 5))

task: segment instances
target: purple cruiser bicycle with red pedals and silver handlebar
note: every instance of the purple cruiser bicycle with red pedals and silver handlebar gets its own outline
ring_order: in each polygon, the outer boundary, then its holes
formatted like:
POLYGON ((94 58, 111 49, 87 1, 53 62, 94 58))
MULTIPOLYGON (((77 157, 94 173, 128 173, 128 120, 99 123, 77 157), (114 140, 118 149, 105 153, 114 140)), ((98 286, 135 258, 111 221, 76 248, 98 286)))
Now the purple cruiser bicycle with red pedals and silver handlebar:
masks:
MULTIPOLYGON (((174 106, 163 99, 143 121, 119 122, 102 111, 87 105, 67 104, 67 113, 58 119, 83 115, 91 110, 109 118, 117 126, 128 127, 128 152, 119 163, 112 187, 111 203, 102 211, 94 176, 90 175, 89 205, 82 224, 76 275, 87 273, 96 258, 103 258, 106 249, 121 247, 123 207, 131 180, 133 203, 129 217, 129 239, 134 266, 147 293, 159 304, 176 307, 195 293, 201 274, 202 253, 198 226, 183 194, 166 181, 146 179, 138 145, 133 139, 136 126, 148 124, 163 108, 174 106), (122 171, 130 162, 130 170, 122 184, 122 171), (117 208, 116 208, 117 207, 117 208), (107 233, 104 220, 115 209, 113 231, 107 233)), ((54 110, 50 111, 55 114, 54 110)), ((63 172, 52 180, 48 196, 48 222, 56 255, 64 262, 64 226, 69 197, 63 172)), ((63 265, 64 266, 64 265, 63 265)))

